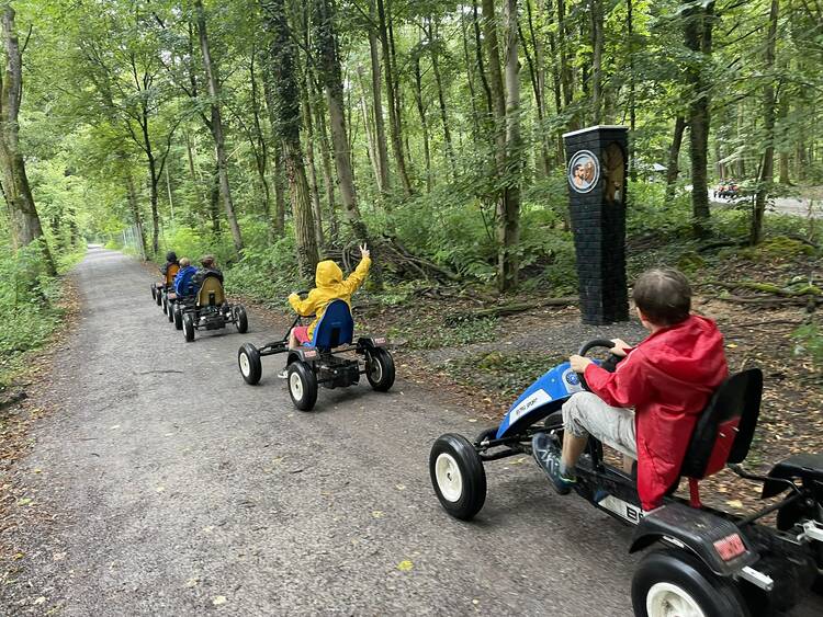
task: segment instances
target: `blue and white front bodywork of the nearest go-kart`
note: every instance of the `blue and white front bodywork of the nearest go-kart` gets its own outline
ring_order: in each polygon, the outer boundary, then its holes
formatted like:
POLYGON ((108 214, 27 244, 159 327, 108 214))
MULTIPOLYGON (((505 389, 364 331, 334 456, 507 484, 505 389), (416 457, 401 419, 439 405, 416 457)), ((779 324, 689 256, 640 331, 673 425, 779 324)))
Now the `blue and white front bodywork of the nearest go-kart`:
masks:
MULTIPOLYGON (((598 361, 595 361, 599 364, 598 361)), ((568 397, 584 390, 570 363, 559 364, 529 386, 503 418, 495 438, 515 435, 557 411, 568 397)))

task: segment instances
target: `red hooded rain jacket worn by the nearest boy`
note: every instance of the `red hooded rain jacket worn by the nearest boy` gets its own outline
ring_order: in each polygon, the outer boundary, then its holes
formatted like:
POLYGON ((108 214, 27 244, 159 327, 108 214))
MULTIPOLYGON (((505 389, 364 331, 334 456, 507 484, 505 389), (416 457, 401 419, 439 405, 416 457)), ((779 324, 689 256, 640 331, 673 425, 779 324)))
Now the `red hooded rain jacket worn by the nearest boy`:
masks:
POLYGON ((615 373, 586 367, 593 392, 612 407, 634 408, 638 493, 646 512, 677 480, 697 419, 728 375, 722 334, 696 315, 651 334, 615 373))

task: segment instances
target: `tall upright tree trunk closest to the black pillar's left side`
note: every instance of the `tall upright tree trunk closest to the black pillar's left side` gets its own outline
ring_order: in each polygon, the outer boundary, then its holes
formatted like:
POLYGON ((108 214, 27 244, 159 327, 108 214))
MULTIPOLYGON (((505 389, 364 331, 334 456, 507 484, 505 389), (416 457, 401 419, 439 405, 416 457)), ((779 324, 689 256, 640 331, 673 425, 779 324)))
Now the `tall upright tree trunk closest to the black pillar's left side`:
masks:
POLYGON ((517 0, 506 0, 506 187, 498 212, 498 287, 517 287, 517 243, 520 237, 520 66, 518 62, 517 0))

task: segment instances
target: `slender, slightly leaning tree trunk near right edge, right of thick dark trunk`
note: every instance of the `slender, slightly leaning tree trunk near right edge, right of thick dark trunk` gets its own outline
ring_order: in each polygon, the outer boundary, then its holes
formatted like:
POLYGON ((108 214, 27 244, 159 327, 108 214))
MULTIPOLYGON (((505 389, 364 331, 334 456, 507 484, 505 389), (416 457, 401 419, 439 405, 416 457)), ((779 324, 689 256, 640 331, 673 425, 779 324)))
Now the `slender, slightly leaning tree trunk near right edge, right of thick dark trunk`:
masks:
MULTIPOLYGON (((778 0, 771 0, 769 10, 769 30, 766 39, 766 61, 764 75, 770 75, 775 68, 775 47, 777 45, 777 20, 779 13, 778 0)), ((763 88, 763 130, 766 138, 766 150, 763 152, 760 174, 757 179, 754 212, 752 213, 752 228, 748 240, 757 244, 763 240, 763 217, 766 213, 766 198, 771 190, 775 176, 775 82, 769 79, 763 88)))

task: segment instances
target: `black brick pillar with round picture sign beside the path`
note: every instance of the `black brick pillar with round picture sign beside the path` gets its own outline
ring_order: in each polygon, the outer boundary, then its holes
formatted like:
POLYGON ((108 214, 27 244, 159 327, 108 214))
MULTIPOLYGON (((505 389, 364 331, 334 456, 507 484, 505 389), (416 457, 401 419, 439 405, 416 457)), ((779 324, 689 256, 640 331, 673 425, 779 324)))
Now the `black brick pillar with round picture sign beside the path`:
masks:
POLYGON ((583 323, 627 321, 627 128, 593 126, 563 139, 583 323))

